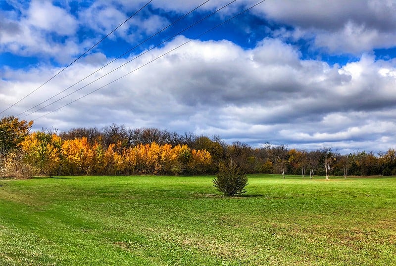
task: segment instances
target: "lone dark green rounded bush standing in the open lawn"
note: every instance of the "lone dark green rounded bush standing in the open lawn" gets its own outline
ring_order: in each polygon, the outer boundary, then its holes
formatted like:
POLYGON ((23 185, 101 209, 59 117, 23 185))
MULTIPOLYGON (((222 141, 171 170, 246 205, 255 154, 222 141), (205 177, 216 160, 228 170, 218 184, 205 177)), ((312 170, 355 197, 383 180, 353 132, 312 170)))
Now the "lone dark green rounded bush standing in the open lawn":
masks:
POLYGON ((213 179, 214 187, 224 195, 234 196, 246 192, 247 176, 244 170, 233 161, 219 164, 219 172, 213 179))

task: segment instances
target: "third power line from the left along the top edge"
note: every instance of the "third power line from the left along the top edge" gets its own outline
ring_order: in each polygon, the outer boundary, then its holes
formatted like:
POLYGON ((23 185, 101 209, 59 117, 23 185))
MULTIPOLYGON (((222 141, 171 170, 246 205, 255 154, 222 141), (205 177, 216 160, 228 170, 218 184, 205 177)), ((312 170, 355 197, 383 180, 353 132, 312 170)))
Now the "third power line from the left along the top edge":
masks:
POLYGON ((84 85, 83 87, 81 87, 81 88, 79 88, 79 89, 76 89, 76 90, 70 92, 69 94, 67 94, 67 95, 65 95, 65 96, 63 96, 63 97, 61 97, 61 98, 59 98, 59 99, 57 99, 57 100, 55 100, 55 101, 53 101, 53 102, 47 104, 46 106, 43 106, 43 107, 37 109, 36 111, 30 112, 29 114, 26 114, 26 115, 22 116, 21 118, 24 118, 24 117, 26 117, 26 116, 29 116, 29 115, 31 115, 31 114, 33 114, 33 113, 36 113, 36 112, 40 111, 40 110, 43 110, 44 108, 47 108, 48 106, 50 106, 50 105, 52 105, 52 104, 54 104, 54 103, 56 103, 56 102, 58 102, 58 101, 60 101, 60 100, 62 100, 62 99, 64 99, 64 98, 66 98, 66 97, 68 97, 68 96, 70 96, 71 94, 74 94, 75 92, 77 92, 77 91, 79 91, 79 90, 81 90, 81 89, 84 89, 85 87, 87 87, 87 86, 93 84, 94 82, 97 82, 98 80, 100 80, 100 79, 104 78, 105 76, 111 74, 112 72, 116 71, 117 69, 120 69, 121 67, 125 66, 126 64, 129 64, 129 63, 132 62, 133 60, 135 60, 135 59, 141 57, 142 55, 144 55, 144 54, 146 54, 146 53, 148 53, 148 52, 151 51, 152 49, 155 49, 156 47, 160 46, 161 44, 166 43, 167 41, 171 40, 172 38, 174 38, 174 37, 180 35, 181 33, 185 32, 186 30, 188 30, 188 29, 194 27, 195 25, 197 25, 197 24, 200 23, 201 21, 207 19, 208 17, 210 17, 210 16, 212 16, 213 14, 217 13, 217 12, 220 11, 221 9, 223 9, 223 8, 225 8, 225 7, 227 7, 227 6, 229 6, 230 4, 232 4, 232 3, 235 2, 235 1, 236 1, 236 0, 233 0, 233 1, 229 2, 228 4, 224 5, 223 7, 217 9, 216 11, 210 13, 209 15, 205 16, 204 18, 201 18, 201 19, 198 20, 197 22, 195 22, 195 23, 193 23, 192 25, 188 26, 188 27, 185 28, 184 30, 182 30, 182 31, 180 31, 180 32, 178 32, 178 33, 176 33, 176 34, 173 35, 172 37, 169 37, 169 38, 166 39, 165 41, 162 41, 161 43, 159 43, 159 44, 157 44, 157 45, 151 47, 151 48, 148 49, 147 51, 145 51, 145 52, 139 54, 138 56, 132 58, 131 60, 127 61, 126 63, 124 63, 124 64, 122 64, 122 65, 120 65, 120 66, 114 68, 114 69, 111 70, 110 72, 107 72, 106 74, 104 74, 103 76, 99 77, 98 79, 96 79, 96 80, 94 80, 94 81, 92 81, 92 82, 90 82, 90 83, 84 85))

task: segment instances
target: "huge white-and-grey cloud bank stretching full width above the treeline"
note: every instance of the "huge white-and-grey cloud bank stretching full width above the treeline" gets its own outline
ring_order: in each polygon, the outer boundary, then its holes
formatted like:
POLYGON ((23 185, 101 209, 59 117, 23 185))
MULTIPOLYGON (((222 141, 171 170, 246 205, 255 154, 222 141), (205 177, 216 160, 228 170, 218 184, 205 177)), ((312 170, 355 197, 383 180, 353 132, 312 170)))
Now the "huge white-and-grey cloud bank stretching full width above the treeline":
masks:
MULTIPOLYGON (((186 41, 179 37, 156 48, 98 84, 28 118, 77 99, 186 41)), ((72 66, 13 112, 30 108, 96 69, 88 62, 72 66)), ((1 97, 0 104, 12 103, 26 93, 26 88, 37 86, 38 76, 50 76, 56 71, 5 71, 7 79, 1 81, 0 93, 8 96, 1 97), (9 96, 7 89, 16 94, 9 96)), ((256 146, 271 141, 305 148, 326 144, 346 152, 384 150, 396 144, 395 73, 395 60, 375 61, 370 55, 344 66, 303 60, 296 47, 279 39, 264 39, 247 50, 229 41, 195 40, 38 119, 35 125, 67 130, 114 122, 180 133, 219 134, 228 141, 242 139, 256 146)))

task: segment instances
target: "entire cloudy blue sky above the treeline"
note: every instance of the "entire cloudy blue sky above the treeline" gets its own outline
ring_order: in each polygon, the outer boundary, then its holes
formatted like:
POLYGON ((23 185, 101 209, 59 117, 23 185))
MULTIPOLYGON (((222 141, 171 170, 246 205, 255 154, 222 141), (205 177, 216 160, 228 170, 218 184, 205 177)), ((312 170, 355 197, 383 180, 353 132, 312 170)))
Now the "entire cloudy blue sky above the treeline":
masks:
POLYGON ((396 0, 230 2, 0 0, 0 116, 396 148, 396 0))

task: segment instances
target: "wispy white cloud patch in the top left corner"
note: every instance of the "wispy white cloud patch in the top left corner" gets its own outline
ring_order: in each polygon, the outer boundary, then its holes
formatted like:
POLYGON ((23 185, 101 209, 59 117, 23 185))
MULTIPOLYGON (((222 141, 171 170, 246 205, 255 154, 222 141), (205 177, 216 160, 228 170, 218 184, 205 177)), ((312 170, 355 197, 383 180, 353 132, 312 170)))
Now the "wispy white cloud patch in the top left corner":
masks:
POLYGON ((80 50, 74 34, 75 17, 49 1, 32 1, 16 11, 1 12, 0 50, 22 56, 41 55, 61 62, 70 60, 80 50), (64 38, 63 42, 55 41, 64 38), (54 40, 55 39, 55 40, 54 40))

